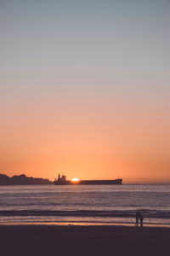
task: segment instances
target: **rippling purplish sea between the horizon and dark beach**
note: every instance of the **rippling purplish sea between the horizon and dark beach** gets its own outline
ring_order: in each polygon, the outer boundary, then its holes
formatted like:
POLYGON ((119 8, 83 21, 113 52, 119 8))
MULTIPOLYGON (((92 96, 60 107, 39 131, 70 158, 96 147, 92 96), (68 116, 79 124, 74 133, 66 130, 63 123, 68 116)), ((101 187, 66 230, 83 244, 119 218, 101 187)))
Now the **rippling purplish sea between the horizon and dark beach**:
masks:
POLYGON ((0 224, 144 224, 170 226, 170 185, 0 187, 0 224))

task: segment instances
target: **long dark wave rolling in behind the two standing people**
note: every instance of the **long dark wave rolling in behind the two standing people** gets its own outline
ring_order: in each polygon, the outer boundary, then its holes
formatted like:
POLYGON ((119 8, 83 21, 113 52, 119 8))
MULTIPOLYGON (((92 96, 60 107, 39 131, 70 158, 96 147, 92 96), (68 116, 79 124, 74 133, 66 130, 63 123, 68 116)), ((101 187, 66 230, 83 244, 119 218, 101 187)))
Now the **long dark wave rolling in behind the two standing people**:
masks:
POLYGON ((62 217, 102 217, 102 218, 134 218, 136 211, 141 211, 144 218, 170 218, 169 211, 137 209, 135 211, 49 211, 49 210, 19 210, 0 211, 0 216, 62 216, 62 217))

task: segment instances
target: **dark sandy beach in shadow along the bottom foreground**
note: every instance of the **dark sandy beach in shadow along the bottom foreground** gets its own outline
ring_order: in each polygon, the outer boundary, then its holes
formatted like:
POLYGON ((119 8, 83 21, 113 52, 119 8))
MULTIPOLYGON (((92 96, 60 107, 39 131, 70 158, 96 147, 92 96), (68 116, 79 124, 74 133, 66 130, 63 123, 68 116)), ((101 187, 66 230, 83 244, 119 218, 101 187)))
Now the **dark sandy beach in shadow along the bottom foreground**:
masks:
POLYGON ((5 255, 168 255, 169 228, 1 225, 5 255))

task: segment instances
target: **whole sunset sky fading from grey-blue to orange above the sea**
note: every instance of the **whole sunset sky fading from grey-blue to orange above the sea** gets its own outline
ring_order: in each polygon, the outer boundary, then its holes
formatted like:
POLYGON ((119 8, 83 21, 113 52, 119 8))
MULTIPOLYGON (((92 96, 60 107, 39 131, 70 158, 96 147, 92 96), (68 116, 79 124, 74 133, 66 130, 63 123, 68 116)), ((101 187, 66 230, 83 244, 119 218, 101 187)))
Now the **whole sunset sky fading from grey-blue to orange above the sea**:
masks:
POLYGON ((0 173, 170 183, 169 13, 0 0, 0 173))

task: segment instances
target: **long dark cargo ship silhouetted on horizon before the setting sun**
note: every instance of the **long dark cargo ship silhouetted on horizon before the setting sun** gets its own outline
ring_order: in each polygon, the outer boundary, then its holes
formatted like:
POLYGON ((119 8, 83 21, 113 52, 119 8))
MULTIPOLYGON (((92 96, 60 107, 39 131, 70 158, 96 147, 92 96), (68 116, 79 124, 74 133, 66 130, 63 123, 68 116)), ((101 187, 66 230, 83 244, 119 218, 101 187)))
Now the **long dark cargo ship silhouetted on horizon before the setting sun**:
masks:
POLYGON ((122 184, 122 178, 117 178, 114 180, 79 180, 79 179, 72 179, 67 180, 65 175, 62 175, 58 179, 54 180, 54 185, 121 185, 122 184))

